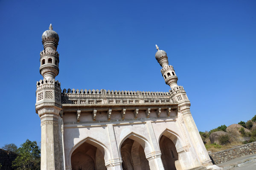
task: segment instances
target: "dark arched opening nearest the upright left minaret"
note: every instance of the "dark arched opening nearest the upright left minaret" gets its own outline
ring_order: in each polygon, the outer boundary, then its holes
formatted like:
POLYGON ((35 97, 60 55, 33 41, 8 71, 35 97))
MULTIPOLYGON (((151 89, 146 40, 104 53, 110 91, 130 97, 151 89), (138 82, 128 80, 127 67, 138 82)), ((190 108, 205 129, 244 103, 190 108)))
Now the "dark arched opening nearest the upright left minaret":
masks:
POLYGON ((71 155, 72 170, 107 170, 102 151, 84 142, 71 155))

